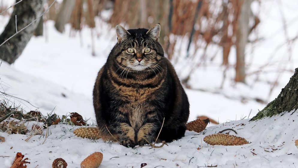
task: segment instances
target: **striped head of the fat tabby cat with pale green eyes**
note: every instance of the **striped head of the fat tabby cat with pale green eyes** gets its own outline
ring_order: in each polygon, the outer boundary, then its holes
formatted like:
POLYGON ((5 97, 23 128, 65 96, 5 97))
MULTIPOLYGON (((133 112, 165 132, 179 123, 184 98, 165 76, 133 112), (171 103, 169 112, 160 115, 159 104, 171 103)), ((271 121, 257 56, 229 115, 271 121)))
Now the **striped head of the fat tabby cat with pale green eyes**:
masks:
POLYGON ((159 44, 160 25, 156 24, 148 29, 129 29, 117 25, 118 50, 115 61, 123 68, 134 71, 150 69, 158 65, 164 57, 163 49, 159 44))

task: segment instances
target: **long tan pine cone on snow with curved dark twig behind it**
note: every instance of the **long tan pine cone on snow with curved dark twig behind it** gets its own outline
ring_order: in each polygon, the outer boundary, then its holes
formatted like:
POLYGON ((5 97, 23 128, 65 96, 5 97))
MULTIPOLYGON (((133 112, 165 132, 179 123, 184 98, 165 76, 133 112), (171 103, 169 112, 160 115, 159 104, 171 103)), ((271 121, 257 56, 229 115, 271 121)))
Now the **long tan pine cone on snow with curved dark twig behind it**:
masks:
POLYGON ((229 134, 212 134, 203 139, 209 145, 244 145, 248 144, 246 139, 229 134))

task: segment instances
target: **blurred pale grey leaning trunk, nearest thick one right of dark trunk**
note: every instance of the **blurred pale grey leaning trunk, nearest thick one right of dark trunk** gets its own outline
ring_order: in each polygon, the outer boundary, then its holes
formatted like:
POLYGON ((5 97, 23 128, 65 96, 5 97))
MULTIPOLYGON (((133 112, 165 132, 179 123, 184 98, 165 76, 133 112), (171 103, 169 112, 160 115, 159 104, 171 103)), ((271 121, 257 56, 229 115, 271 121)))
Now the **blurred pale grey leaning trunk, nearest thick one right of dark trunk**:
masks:
POLYGON ((64 31, 64 25, 68 23, 75 3, 76 1, 74 0, 63 0, 60 5, 59 12, 55 19, 55 28, 59 32, 62 33, 64 31))

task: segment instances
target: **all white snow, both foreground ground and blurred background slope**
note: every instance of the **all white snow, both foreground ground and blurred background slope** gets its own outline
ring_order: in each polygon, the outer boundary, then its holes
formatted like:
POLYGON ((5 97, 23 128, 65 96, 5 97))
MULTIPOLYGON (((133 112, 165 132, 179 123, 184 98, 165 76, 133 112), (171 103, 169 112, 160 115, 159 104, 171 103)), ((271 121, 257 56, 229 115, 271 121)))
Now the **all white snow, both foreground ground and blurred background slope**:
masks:
MULTIPOLYGON (((14 1, 5 2, 12 4, 14 1)), ((141 163, 147 163, 147 167, 297 167, 298 149, 294 145, 294 140, 298 139, 297 113, 285 113, 283 116, 256 122, 242 120, 253 117, 266 105, 254 99, 265 102, 273 100, 288 83, 294 68, 298 67, 297 43, 293 43, 291 52, 288 52, 287 45, 283 45, 286 39, 279 13, 279 10, 284 12, 289 38, 293 38, 297 35, 298 27, 297 19, 295 20, 297 5, 294 0, 262 2, 264 10, 260 12, 258 33, 251 35, 250 40, 264 40, 247 47, 247 72, 252 74, 247 76, 247 84, 235 84, 233 81, 234 48, 229 56, 231 65, 224 79, 225 67, 220 66, 221 51, 217 51, 216 46, 208 47, 206 62, 198 66, 190 76, 189 85, 194 89, 186 89, 190 102, 189 121, 199 115, 206 115, 221 123, 208 125, 205 135, 186 131, 185 137, 169 143, 169 146, 131 149, 115 142, 109 144, 101 139, 93 141, 76 137, 73 134, 76 127, 64 124, 50 126, 50 136, 45 142, 45 130, 43 136, 33 136, 28 142, 24 141, 27 138, 25 135, 0 132, 0 136, 6 139, 5 142, 0 142, 0 156, 9 156, 0 157, 0 163, 3 163, 4 168, 10 167, 16 152, 22 152, 31 161, 28 167, 51 167, 52 161, 58 157, 66 160, 68 167, 79 167, 85 157, 99 151, 104 155, 100 167, 140 167, 141 163), (275 50, 279 46, 282 47, 275 50), (210 61, 211 57, 214 57, 213 61, 210 61), (268 66, 265 66, 267 63, 268 66), (254 73, 259 70, 260 73, 254 73), (277 77, 278 83, 270 93, 277 77), (235 129, 237 136, 246 138, 251 144, 210 146, 203 141, 204 136, 226 128, 235 129), (13 148, 10 149, 11 147, 13 148)), ((258 13, 258 4, 253 3, 252 7, 254 13, 258 13)), ((8 17, 0 16, 0 22, 3 23, 0 25, 2 32, 8 17)), ((113 27, 99 18, 96 19, 96 24, 94 57, 91 55, 91 31, 88 27, 83 28, 81 35, 71 31, 69 25, 64 33, 59 33, 52 21, 46 22, 44 36, 32 37, 13 65, 5 62, 1 64, 0 91, 25 99, 35 106, 19 99, 9 99, 25 111, 38 107, 46 115, 54 109, 59 116, 78 112, 83 118, 90 118, 90 124, 95 123, 92 105, 94 81, 116 42, 113 27)), ((180 52, 183 47, 186 45, 178 42, 176 56, 174 55, 172 61, 180 79, 186 77, 193 65, 200 63, 199 54, 203 52, 198 51, 196 62, 193 63, 193 60, 183 57, 184 53, 180 52), (177 58, 177 55, 181 57, 177 58)), ((29 130, 32 124, 36 123, 29 123, 29 130)), ((233 132, 231 134, 235 135, 233 132)))

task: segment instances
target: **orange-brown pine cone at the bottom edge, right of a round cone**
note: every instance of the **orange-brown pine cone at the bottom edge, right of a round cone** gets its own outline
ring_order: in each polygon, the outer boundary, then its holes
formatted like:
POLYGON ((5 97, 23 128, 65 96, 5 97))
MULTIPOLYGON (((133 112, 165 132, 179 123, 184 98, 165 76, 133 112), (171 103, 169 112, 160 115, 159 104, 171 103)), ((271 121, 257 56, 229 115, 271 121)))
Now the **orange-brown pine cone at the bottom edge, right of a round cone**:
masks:
POLYGON ((82 161, 81 168, 97 168, 101 161, 103 161, 103 154, 100 152, 94 152, 82 161))

